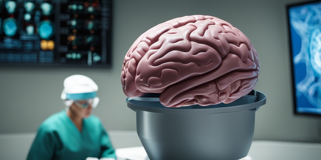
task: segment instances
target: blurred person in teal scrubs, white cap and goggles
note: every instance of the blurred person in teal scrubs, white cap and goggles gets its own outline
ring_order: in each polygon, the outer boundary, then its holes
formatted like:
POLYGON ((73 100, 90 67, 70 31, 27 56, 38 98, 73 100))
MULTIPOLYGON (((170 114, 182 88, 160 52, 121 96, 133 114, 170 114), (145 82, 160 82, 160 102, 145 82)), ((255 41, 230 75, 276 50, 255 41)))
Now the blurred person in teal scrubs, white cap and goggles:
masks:
POLYGON ((87 76, 67 77, 61 93, 67 107, 40 125, 27 160, 115 160, 108 133, 91 115, 99 102, 97 91, 97 84, 87 76))

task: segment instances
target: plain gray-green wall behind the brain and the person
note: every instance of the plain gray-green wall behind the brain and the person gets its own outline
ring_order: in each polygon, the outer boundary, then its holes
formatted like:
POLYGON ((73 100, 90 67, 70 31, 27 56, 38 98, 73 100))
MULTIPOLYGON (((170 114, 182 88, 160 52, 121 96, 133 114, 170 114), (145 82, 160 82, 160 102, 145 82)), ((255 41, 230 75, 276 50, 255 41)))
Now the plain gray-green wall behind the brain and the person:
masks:
POLYGON ((267 104, 256 112, 255 139, 319 141, 315 117, 294 116, 286 23, 286 4, 298 0, 115 0, 112 68, 0 68, 0 133, 35 132, 49 115, 62 110, 65 77, 83 74, 99 85, 93 111, 107 130, 134 130, 135 113, 126 107, 120 84, 124 56, 149 28, 176 17, 212 15, 230 22, 251 40, 261 68, 256 90, 267 104))

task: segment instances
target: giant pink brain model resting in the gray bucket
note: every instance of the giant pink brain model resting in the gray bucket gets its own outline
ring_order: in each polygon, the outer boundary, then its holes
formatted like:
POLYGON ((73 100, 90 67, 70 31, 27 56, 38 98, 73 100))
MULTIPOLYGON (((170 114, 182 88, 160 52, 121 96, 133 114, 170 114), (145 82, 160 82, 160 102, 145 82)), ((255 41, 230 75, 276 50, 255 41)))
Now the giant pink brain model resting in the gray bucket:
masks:
POLYGON ((166 107, 207 106, 247 95, 258 76, 257 53, 239 29, 193 15, 143 33, 125 56, 121 83, 127 97, 160 93, 166 107))

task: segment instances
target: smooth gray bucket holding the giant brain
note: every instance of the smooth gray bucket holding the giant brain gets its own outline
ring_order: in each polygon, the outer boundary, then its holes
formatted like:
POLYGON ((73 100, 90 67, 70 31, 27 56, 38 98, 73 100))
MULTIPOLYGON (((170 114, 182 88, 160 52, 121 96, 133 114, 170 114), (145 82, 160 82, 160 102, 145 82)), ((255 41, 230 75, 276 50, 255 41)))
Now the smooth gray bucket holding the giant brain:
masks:
POLYGON ((255 111, 265 94, 252 91, 229 104, 167 108, 159 98, 127 98, 137 134, 151 160, 237 160, 251 147, 255 111))

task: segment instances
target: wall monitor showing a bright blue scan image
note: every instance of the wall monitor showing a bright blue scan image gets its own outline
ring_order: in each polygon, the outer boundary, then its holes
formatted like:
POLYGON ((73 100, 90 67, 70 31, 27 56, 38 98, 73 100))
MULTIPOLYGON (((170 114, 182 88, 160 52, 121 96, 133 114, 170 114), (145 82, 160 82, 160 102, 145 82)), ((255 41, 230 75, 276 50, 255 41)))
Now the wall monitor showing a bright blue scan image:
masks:
POLYGON ((287 6, 294 113, 321 116, 321 1, 287 6))

